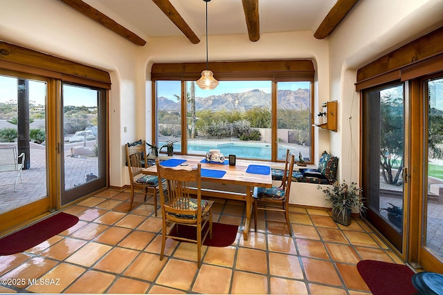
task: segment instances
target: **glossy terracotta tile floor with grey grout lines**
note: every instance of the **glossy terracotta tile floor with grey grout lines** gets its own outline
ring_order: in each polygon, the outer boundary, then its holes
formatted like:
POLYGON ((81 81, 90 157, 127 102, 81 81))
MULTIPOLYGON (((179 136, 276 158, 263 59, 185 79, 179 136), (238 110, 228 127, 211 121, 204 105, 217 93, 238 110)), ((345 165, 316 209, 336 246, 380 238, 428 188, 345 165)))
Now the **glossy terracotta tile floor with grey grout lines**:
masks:
MULTIPOLYGON (((233 245, 204 246, 200 269, 196 246, 171 239, 161 261, 161 211, 155 217, 152 199, 136 197, 127 213, 129 196, 98 193, 63 210, 80 218, 71 229, 0 256, 0 293, 370 294, 359 260, 402 263, 362 220, 343 227, 328 211, 298 207, 293 237, 283 223, 259 220, 248 240, 239 230, 233 245)), ((244 222, 242 202, 215 202, 215 222, 244 222)))

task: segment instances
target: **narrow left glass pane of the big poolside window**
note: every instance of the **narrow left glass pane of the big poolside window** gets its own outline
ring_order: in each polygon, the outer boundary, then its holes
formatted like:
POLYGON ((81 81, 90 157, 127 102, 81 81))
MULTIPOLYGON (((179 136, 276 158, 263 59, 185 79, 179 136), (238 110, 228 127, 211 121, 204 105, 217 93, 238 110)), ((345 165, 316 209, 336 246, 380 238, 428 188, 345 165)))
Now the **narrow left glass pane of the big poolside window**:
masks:
MULTIPOLYGON (((181 81, 157 81, 156 101, 159 136, 157 146, 161 148, 168 142, 173 142, 174 152, 181 152, 181 81)), ((164 147, 161 152, 166 153, 167 148, 164 147)))

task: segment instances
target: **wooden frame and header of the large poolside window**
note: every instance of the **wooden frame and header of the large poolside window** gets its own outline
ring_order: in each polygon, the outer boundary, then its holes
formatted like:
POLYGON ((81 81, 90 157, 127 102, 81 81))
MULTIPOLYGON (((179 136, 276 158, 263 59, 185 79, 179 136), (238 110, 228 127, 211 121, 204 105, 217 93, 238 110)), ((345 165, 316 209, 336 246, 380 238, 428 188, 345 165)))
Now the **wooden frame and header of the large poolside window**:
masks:
MULTIPOLYGON (((195 64, 153 64, 151 70, 152 80, 152 140, 153 144, 158 141, 157 129, 157 102, 156 102, 156 82, 157 81, 181 81, 181 110, 186 112, 186 82, 197 80, 201 75, 201 70, 206 68, 206 63, 195 64)), ((277 85, 278 82, 309 82, 311 93, 310 120, 314 122, 314 63, 307 60, 283 60, 283 61, 239 61, 239 62, 215 62, 208 64, 208 68, 213 70, 215 77, 219 81, 271 81, 271 104, 272 104, 272 140, 271 140, 271 161, 278 160, 277 149, 277 85)), ((182 129, 186 126, 186 116, 182 116, 182 129)), ((186 154, 188 144, 187 137, 183 137, 181 153, 186 154)), ((311 147, 308 164, 314 163, 314 126, 310 126, 311 147)), ((257 159, 259 160, 259 159, 257 159)))

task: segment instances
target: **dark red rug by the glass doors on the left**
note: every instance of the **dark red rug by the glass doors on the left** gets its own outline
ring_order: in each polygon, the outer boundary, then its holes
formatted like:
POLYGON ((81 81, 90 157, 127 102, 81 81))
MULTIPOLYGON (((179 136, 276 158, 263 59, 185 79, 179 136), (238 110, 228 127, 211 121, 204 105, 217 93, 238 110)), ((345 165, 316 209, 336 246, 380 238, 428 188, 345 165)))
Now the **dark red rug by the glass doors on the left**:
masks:
POLYGON ((20 229, 0 239, 0 256, 17 254, 35 247, 48 240, 48 238, 60 234, 65 229, 69 229, 77 222, 77 216, 60 212, 29 227, 20 229))

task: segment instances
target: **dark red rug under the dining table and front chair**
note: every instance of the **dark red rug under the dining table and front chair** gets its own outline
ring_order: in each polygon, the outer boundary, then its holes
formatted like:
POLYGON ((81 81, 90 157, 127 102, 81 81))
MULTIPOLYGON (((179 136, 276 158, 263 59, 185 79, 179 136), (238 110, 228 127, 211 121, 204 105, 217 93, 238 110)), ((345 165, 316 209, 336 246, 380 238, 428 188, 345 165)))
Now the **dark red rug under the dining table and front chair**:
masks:
MULTIPOLYGON (((208 225, 206 225, 208 226, 208 225)), ((182 238, 197 238, 197 231, 195 227, 188 227, 186 225, 180 225, 180 234, 178 236, 182 238)), ((237 236, 237 225, 225 225, 224 223, 213 222, 213 238, 209 238, 209 234, 206 237, 203 245, 212 247, 227 247, 233 244, 235 237, 237 236)), ((174 225, 170 231, 170 235, 177 236, 177 225, 174 225)))

